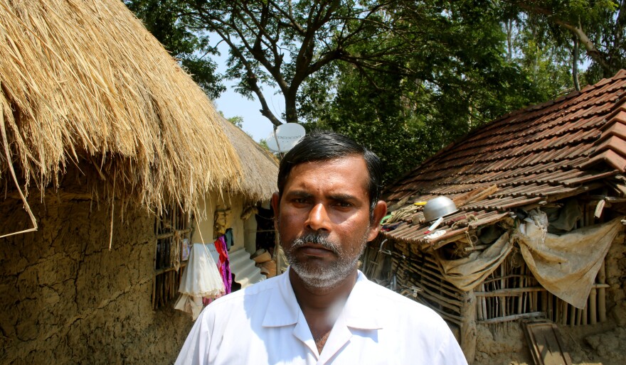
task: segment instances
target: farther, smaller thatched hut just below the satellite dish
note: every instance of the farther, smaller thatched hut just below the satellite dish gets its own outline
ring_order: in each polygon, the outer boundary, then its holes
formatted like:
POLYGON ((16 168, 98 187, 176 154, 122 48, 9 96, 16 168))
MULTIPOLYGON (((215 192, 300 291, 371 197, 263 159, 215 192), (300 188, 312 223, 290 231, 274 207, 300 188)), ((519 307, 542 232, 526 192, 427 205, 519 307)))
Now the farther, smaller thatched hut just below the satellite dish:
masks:
POLYGON ((270 198, 278 190, 278 161, 234 124, 223 118, 221 124, 238 153, 243 173, 238 178, 237 190, 226 195, 221 192, 206 195, 199 207, 203 214, 198 218, 191 242, 210 245, 228 232, 232 239, 228 255, 233 282, 235 287, 245 288, 276 273, 275 261, 256 263, 252 258, 259 250, 273 254, 275 235, 268 213, 270 198))

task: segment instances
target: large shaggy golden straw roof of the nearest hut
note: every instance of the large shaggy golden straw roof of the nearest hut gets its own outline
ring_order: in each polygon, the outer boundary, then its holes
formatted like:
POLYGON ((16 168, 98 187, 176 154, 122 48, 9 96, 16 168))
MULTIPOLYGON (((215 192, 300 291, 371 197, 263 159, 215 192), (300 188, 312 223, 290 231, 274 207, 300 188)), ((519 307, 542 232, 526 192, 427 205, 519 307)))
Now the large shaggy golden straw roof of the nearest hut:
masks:
POLYGON ((0 0, 0 127, 22 190, 86 162, 109 192, 191 209, 240 175, 211 101, 120 0, 0 0))

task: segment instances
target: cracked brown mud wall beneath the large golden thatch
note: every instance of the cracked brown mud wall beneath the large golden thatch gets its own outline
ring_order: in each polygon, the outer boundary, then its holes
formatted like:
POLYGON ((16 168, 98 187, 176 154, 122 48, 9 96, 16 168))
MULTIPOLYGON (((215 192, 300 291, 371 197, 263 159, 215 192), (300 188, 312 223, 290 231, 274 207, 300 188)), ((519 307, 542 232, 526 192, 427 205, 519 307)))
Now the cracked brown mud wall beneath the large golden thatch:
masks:
MULTIPOLYGON (((171 364, 191 318, 152 310, 154 217, 108 205, 31 199, 39 229, 0 239, 1 364, 171 364)), ((0 200, 3 231, 28 226, 0 200)), ((6 232, 5 232, 6 233, 6 232)))

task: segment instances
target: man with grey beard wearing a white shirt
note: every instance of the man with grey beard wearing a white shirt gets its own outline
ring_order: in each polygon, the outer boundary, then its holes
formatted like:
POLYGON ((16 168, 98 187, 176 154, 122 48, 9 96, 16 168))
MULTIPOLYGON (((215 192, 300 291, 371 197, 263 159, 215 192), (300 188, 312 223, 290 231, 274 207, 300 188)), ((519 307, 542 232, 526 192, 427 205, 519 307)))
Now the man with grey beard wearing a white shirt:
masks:
POLYGON ((272 197, 290 267, 208 305, 176 364, 466 364, 441 317, 357 270, 387 211, 381 175, 349 138, 305 136, 272 197))

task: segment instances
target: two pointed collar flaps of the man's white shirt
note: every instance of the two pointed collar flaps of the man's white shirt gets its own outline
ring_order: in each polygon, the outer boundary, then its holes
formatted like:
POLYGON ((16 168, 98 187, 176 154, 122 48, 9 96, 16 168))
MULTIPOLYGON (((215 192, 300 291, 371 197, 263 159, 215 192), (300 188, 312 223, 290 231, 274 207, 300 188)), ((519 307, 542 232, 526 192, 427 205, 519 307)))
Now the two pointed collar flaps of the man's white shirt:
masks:
MULTIPOLYGON (((277 294, 270 296, 269 305, 263 318, 263 327, 281 327, 295 325, 298 322, 300 307, 296 300, 291 281, 290 268, 277 278, 277 294)), ((358 329, 381 329, 381 303, 372 295, 370 281, 359 271, 354 288, 346 300, 341 316, 346 327, 358 329)))

